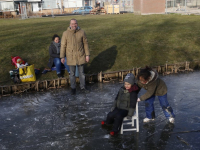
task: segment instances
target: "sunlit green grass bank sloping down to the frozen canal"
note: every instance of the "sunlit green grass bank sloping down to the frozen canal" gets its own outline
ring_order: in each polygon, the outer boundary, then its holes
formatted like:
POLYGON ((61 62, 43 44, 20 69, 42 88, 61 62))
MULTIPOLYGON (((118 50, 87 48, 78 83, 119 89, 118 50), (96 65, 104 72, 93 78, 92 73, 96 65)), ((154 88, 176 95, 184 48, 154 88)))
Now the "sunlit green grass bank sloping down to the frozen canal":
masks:
MULTIPOLYGON (((85 30, 91 51, 85 72, 116 71, 199 60, 200 16, 86 15, 74 16, 85 30)), ((20 56, 35 68, 47 67, 54 33, 62 36, 72 16, 0 20, 0 84, 11 84, 11 56, 20 56)), ((67 74, 65 74, 67 75, 67 74)), ((56 72, 38 80, 56 78, 56 72)))

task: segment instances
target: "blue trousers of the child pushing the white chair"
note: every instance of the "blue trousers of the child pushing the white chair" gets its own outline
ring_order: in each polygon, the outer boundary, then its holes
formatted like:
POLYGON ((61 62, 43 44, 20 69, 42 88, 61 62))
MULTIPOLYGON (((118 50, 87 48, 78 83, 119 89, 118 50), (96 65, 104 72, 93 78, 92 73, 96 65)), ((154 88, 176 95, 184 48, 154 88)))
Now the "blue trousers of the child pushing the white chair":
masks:
MULTIPOLYGON (((170 117, 175 117, 173 113, 173 109, 169 105, 167 101, 167 94, 163 96, 158 96, 160 106, 162 107, 163 113, 166 118, 170 117)), ((146 111, 146 117, 149 119, 155 118, 155 112, 154 112, 154 101, 155 101, 155 96, 151 96, 147 100, 145 100, 145 111, 146 111)))

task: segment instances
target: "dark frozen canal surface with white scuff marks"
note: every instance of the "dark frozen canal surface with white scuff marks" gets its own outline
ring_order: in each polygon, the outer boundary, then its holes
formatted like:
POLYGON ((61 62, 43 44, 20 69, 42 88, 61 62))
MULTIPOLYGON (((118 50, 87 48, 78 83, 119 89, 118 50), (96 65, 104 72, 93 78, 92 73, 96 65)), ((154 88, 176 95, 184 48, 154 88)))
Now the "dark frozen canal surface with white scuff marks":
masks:
MULTIPOLYGON (((94 83, 88 94, 69 88, 23 93, 0 99, 0 150, 199 150, 200 72, 162 77, 176 114, 174 125, 155 100, 156 120, 144 124, 139 102, 140 132, 111 137, 101 127, 122 83, 94 83)), ((142 90, 140 92, 144 93, 142 90)))

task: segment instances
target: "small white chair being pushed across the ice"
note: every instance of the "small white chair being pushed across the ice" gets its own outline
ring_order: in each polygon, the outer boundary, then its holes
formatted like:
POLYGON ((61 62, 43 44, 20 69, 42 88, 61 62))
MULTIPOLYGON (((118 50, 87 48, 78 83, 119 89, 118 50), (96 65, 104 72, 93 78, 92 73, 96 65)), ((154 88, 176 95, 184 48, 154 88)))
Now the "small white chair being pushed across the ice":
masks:
POLYGON ((138 102, 136 104, 135 113, 132 116, 132 119, 127 119, 127 117, 124 117, 120 133, 123 134, 124 131, 137 131, 137 132, 139 132, 138 102), (136 120, 136 126, 135 126, 135 123, 134 123, 135 120, 136 120), (126 122, 124 122, 124 121, 126 121, 126 122), (128 129, 124 129, 124 125, 129 125, 129 124, 132 125, 131 128, 129 127, 128 129))

